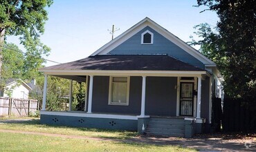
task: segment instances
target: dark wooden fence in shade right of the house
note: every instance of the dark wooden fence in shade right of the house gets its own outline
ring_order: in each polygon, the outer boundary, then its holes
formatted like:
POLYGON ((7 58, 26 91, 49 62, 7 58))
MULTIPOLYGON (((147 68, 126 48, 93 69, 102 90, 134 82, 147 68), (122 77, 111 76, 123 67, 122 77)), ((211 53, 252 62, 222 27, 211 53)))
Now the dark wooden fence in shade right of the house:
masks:
POLYGON ((212 99, 212 123, 215 131, 252 132, 256 131, 256 101, 247 99, 212 99))

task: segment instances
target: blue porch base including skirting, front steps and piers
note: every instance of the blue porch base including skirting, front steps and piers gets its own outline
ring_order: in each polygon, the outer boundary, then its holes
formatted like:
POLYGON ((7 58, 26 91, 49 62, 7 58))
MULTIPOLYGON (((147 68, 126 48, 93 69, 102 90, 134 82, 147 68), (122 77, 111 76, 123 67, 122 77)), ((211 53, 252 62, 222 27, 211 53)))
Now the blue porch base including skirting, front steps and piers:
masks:
MULTIPOLYGON (((153 130, 160 130, 163 135, 170 134, 176 137, 193 137, 194 133, 199 133, 201 130, 201 128, 196 129, 198 126, 196 125, 196 118, 187 117, 158 117, 157 120, 160 121, 157 121, 157 123, 162 122, 163 124, 154 124, 156 123, 154 122, 156 118, 150 118, 147 115, 141 117, 137 115, 85 113, 83 111, 41 111, 40 118, 41 124, 137 131, 140 134, 148 133, 149 130, 147 129, 152 129, 153 127, 153 130), (151 122, 152 119, 154 119, 153 123, 151 122), (156 126, 157 128, 154 128, 156 126), (164 126, 164 128, 158 128, 161 126, 164 126)), ((154 132, 151 133, 154 135, 154 132)))

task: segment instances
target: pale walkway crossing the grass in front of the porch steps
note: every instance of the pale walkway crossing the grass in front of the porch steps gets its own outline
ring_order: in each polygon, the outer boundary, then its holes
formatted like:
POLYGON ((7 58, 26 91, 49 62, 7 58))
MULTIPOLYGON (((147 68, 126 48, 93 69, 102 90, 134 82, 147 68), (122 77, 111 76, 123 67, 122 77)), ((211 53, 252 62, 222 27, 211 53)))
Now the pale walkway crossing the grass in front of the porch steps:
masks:
MULTIPOLYGON (((22 123, 30 120, 0 120, 0 123, 22 123)), ((30 135, 46 135, 51 137, 66 137, 73 139, 84 140, 98 140, 111 142, 125 142, 125 143, 144 143, 144 144, 160 144, 160 145, 176 145, 198 149, 199 151, 256 151, 255 139, 249 140, 222 140, 217 137, 194 137, 194 138, 180 138, 180 137, 147 137, 138 136, 127 140, 120 140, 115 138, 102 137, 87 137, 82 135, 61 135, 55 133, 39 133, 31 131, 12 131, 0 129, 0 132, 6 133, 24 133, 30 135)))

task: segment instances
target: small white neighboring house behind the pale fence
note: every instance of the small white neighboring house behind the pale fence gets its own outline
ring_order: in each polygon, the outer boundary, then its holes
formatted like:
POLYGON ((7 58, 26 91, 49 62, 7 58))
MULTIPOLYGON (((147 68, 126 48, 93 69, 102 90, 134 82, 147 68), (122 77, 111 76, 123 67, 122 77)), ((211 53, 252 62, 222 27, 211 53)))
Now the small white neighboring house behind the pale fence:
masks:
POLYGON ((12 97, 16 99, 28 99, 29 92, 32 88, 21 79, 8 79, 1 97, 12 97))

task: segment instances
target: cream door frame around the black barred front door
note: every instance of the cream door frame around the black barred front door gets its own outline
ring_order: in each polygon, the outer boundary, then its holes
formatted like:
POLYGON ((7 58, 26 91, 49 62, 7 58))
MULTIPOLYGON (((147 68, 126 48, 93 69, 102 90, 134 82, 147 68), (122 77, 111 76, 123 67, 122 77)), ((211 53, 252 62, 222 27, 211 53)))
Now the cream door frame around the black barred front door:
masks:
MULTIPOLYGON (((181 77, 177 77, 176 116, 180 116, 181 82, 193 82, 194 83, 194 91, 197 90, 197 77, 194 77, 194 79, 181 79, 181 77)), ((192 115, 192 117, 196 117, 196 95, 194 95, 194 97, 193 97, 193 115, 192 115)))

